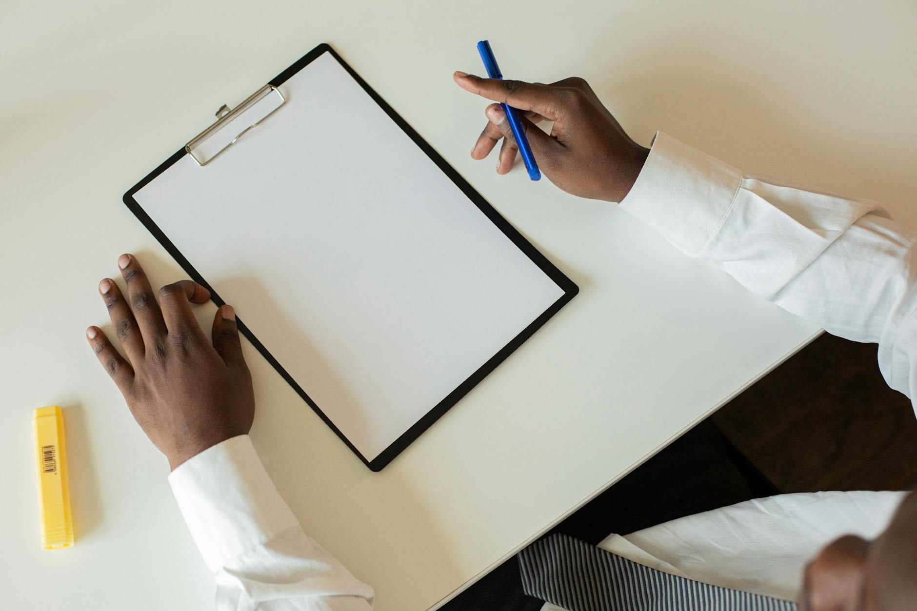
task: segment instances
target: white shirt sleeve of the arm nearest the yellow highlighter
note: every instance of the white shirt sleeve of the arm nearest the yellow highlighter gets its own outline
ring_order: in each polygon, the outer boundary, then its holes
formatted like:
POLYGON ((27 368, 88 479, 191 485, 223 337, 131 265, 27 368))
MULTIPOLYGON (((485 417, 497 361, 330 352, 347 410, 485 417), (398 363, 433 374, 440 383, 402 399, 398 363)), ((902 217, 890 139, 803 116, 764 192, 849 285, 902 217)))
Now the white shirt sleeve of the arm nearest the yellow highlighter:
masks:
POLYGON ((248 435, 185 461, 169 483, 215 574, 217 610, 372 608, 372 588, 305 536, 248 435))

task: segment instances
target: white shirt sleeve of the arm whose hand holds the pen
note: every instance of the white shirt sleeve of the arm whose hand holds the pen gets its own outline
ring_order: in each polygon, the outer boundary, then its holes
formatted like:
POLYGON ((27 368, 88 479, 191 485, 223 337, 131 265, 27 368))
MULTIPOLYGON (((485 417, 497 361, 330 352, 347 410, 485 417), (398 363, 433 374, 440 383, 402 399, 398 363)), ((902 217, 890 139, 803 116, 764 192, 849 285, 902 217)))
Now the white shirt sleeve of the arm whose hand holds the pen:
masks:
POLYGON ((875 202, 746 175, 659 132, 621 207, 828 332, 878 342, 886 382, 914 398, 917 234, 875 202))

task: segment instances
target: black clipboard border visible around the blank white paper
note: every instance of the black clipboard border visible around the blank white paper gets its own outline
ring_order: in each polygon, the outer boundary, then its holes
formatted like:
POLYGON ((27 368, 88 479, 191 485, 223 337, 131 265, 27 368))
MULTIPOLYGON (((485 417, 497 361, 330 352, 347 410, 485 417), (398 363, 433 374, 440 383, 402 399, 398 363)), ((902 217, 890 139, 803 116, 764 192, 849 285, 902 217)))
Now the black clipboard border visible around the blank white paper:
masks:
MULTIPOLYGON (((472 188, 471 185, 468 182, 466 182, 465 179, 463 179, 458 174, 458 172, 456 172, 455 169, 453 169, 447 163, 447 161, 444 160, 436 152, 436 150, 434 150, 433 147, 431 147, 425 141, 425 139, 423 139, 420 136, 420 134, 414 131, 414 128, 411 128, 411 126, 408 125, 407 122, 404 121, 404 119, 400 117, 398 113, 394 111, 392 106, 389 106, 388 104, 386 104, 385 100, 383 100, 380 97, 380 95, 377 94, 375 91, 373 91, 370 85, 367 84, 362 78, 360 78, 359 74, 355 72, 353 68, 351 68, 348 65, 348 63, 344 61, 337 54, 337 51, 332 49, 328 44, 322 43, 318 45, 317 47, 315 47, 315 49, 310 50, 298 61, 295 61, 293 65, 291 65, 289 68, 287 68, 286 70, 284 70, 283 72, 281 72, 280 74, 272 78, 271 81, 267 85, 265 85, 264 88, 262 88, 262 91, 269 90, 271 89, 271 87, 276 89, 276 87, 279 87, 287 79, 292 77, 293 74, 302 70, 306 65, 308 65, 312 61, 315 61, 315 59, 317 59, 319 56, 323 55, 324 53, 330 53, 335 58, 335 60, 337 60, 340 63, 340 65, 348 72, 348 74, 357 83, 359 83, 360 87, 362 87, 363 90, 366 91, 366 93, 370 95, 372 100, 377 105, 379 105, 382 110, 385 111, 385 114, 388 115, 392 119, 392 121, 394 121, 394 123, 399 128, 401 128, 403 132, 407 134, 414 141, 414 144, 416 144, 417 147, 419 147, 421 150, 425 152, 426 156, 429 157, 430 160, 436 163, 436 166, 443 173, 447 175, 449 180, 451 180, 453 183, 455 183, 458 186, 461 192, 469 198, 470 202, 473 203, 475 206, 477 206, 481 210, 481 212, 483 212, 484 215, 488 217, 492 221, 492 223, 497 228, 499 228, 503 232, 503 234, 514 243, 514 245, 517 248, 519 248, 519 250, 522 250, 525 253, 525 255, 532 262, 534 262, 536 266, 541 269, 542 272, 545 272, 548 278, 550 278, 554 283, 558 284, 560 289, 563 291, 563 294, 558 298, 556 302, 554 302, 554 304, 550 305, 547 308, 547 310, 545 310, 530 325, 524 328, 508 344, 506 344, 502 350, 499 350, 496 354, 492 356, 490 360, 486 361, 483 365, 481 365, 481 367, 477 371, 473 372, 466 380, 458 384, 458 387, 456 387, 455 390, 447 394, 447 396, 444 399, 442 399, 438 404, 433 406, 433 408, 430 409, 425 414, 424 417, 421 417, 419 420, 417 420, 417 422, 415 422, 411 428, 408 428, 401 435, 401 437, 399 437, 398 439, 395 439, 388 448, 383 450, 378 456, 376 456, 371 461, 367 460, 366 457, 363 456, 362 453, 360 453, 360 451, 357 450, 357 448, 354 447, 354 445, 334 425, 334 423, 331 422, 330 418, 326 417, 321 407, 315 404, 315 401, 313 401, 309 397, 309 395, 306 394, 304 389, 300 387, 300 385, 293 380, 293 376, 291 376, 288 372, 286 372, 283 369, 282 364, 278 362, 271 355, 271 352, 260 342, 260 340, 257 337, 255 337, 255 335, 249 330, 248 327, 246 327, 246 325, 242 322, 242 320, 239 319, 238 320, 239 330, 242 332, 242 334, 246 338, 249 339, 251 344, 261 353, 261 355, 268 362, 271 363, 273 368, 277 370, 278 373, 281 374, 282 378, 286 380, 286 382, 289 383, 293 387, 293 390, 295 390, 296 393, 298 393, 301 397, 303 397, 303 400, 305 401, 305 403, 308 404, 310 407, 312 407, 313 410, 315 410, 315 413, 318 414, 318 416, 322 418, 325 424, 329 428, 331 428, 333 431, 335 431, 335 433, 337 434, 337 437, 340 438, 348 446, 348 448, 352 450, 354 454, 356 454, 359 457, 359 459, 363 461, 364 464, 366 464, 367 467, 370 468, 371 471, 379 472, 381 471, 383 467, 385 467, 389 462, 391 462, 399 453, 401 453, 405 448, 407 448, 411 444, 411 442, 414 441, 414 439, 417 439, 418 437, 420 437, 421 433, 423 433, 427 428, 433 425, 433 423, 436 422, 436 420, 439 417, 445 414, 448 411, 448 409, 452 407, 452 405, 456 405, 456 403, 458 403, 458 400, 461 399, 461 397, 463 397, 465 394, 468 394, 470 390, 474 388, 474 386, 477 383, 481 382, 481 380, 483 380, 490 372, 496 369, 497 365, 503 362, 510 354, 513 353, 514 350, 519 348, 523 344, 523 342, 525 342, 526 339, 532 337, 532 335, 536 332, 536 330, 538 328, 541 328, 550 317, 553 317, 555 314, 557 314, 561 307, 566 305, 577 293, 579 293, 580 289, 575 283, 573 283, 573 281, 571 281, 566 275, 564 275, 563 272, 560 272, 560 270, 558 270, 558 268, 553 263, 551 263, 551 261, 548 261, 547 258, 543 254, 541 254, 527 239, 525 239, 525 237, 523 237, 523 235, 520 234, 505 218, 503 218, 499 212, 497 212, 490 204, 488 204, 487 201, 484 200, 483 197, 481 197, 481 194, 475 191, 474 188, 472 188)), ((255 95, 258 95, 258 94, 255 94, 255 95)), ((255 95, 249 98, 249 100, 254 98, 255 95)), ((239 105, 237 107, 237 110, 241 108, 242 106, 245 106, 246 103, 249 102, 249 100, 247 100, 246 102, 243 102, 242 105, 239 105)), ((226 111, 226 112, 236 112, 236 111, 226 111)), ((219 113, 217 116, 222 117, 222 115, 220 115, 219 113)), ((217 121, 217 124, 218 123, 219 121, 217 121)), ((212 128, 213 127, 214 126, 212 126, 212 128)), ((206 133, 207 133, 207 130, 204 130, 204 132, 202 132, 202 136, 206 133)), ((189 145, 190 144, 191 143, 189 142, 189 145)), ((220 298, 219 294, 217 294, 217 292, 210 285, 210 283, 207 283, 206 279, 204 279, 204 276, 200 272, 198 272, 196 269, 194 269, 194 266, 192 265, 191 261, 188 261, 182 255, 182 252, 178 250, 178 248, 175 247, 175 245, 171 242, 168 236, 166 236, 165 233, 163 233, 163 231, 159 227, 157 227, 156 223, 153 222, 153 220, 149 217, 149 215, 143 210, 143 208, 134 199, 134 194, 136 194, 143 186, 145 186, 147 183, 155 179, 162 172, 165 172, 176 161, 179 161, 185 155, 191 154, 191 152, 192 152, 191 148, 189 146, 186 146, 182 148, 181 150, 178 150, 177 152, 175 152, 166 161, 163 161, 158 168, 156 168, 152 172, 149 172, 149 174, 145 176, 140 182, 138 182, 137 184, 135 184, 134 186, 132 186, 130 189, 127 190, 127 193, 124 194, 124 203, 127 206, 127 208, 134 214, 134 216, 137 217, 138 220, 143 224, 143 226, 149 229, 149 232, 152 233, 152 235, 157 240, 159 240, 162 247, 165 250, 167 250, 169 254, 171 254, 171 256, 175 259, 175 261, 178 261, 178 263, 182 266, 182 269, 186 273, 188 273, 188 275, 195 282, 202 284, 204 287, 207 288, 207 290, 210 291, 210 294, 212 296, 214 303, 216 305, 224 305, 226 302, 224 302, 223 299, 220 298)), ((218 154, 219 153, 217 153, 217 155, 218 154)), ((215 159, 215 157, 216 155, 211 157, 210 160, 208 160, 208 162, 215 159)), ((195 158, 195 161, 197 161, 196 158, 195 158)), ((198 161, 198 163, 200 163, 200 161, 198 161)))

